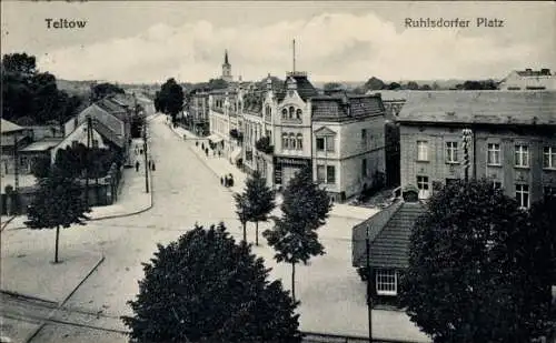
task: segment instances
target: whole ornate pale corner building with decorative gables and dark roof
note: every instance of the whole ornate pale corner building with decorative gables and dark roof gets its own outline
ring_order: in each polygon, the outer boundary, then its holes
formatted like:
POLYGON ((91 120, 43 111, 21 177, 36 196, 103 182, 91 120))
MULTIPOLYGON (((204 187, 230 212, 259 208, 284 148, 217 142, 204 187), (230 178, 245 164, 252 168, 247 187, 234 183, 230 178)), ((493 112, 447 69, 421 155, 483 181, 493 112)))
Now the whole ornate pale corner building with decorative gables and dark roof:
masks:
POLYGON ((319 95, 305 72, 267 79, 244 95, 244 165, 285 188, 307 167, 344 201, 384 174, 384 108, 379 97, 319 95))

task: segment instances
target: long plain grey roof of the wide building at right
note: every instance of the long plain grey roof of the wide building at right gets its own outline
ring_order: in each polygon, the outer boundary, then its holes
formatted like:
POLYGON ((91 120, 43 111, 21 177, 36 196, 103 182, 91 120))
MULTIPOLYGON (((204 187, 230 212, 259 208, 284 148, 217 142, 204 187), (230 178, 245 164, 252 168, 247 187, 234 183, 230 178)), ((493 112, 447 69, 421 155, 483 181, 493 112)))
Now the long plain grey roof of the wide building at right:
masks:
POLYGON ((398 121, 556 125, 556 91, 421 91, 407 100, 398 121))

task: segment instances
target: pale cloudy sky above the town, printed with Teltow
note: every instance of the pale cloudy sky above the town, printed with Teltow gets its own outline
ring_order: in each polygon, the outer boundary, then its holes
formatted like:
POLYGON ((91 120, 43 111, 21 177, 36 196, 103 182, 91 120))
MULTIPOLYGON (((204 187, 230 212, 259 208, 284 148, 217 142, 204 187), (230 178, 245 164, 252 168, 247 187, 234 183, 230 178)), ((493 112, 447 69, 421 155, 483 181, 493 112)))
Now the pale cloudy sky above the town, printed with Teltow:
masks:
POLYGON ((66 80, 260 80, 296 70, 318 82, 504 78, 556 70, 556 6, 448 1, 2 1, 2 54, 27 52, 66 80), (469 20, 408 28, 406 20, 469 20), (503 21, 477 27, 477 18, 503 21), (47 19, 87 21, 48 28, 47 19))

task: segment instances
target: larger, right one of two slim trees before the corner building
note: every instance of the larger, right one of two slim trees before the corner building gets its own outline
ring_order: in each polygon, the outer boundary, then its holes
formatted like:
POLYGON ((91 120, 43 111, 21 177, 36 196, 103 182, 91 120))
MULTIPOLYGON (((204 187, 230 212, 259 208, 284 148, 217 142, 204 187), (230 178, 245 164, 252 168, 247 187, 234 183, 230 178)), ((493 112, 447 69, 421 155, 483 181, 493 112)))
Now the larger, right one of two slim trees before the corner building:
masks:
POLYGON ((307 264, 311 256, 324 255, 317 229, 326 223, 331 202, 325 190, 312 182, 309 168, 304 168, 284 191, 280 205, 282 216, 275 219, 275 228, 262 235, 276 251, 278 262, 291 264, 291 294, 296 299, 296 264, 307 264))

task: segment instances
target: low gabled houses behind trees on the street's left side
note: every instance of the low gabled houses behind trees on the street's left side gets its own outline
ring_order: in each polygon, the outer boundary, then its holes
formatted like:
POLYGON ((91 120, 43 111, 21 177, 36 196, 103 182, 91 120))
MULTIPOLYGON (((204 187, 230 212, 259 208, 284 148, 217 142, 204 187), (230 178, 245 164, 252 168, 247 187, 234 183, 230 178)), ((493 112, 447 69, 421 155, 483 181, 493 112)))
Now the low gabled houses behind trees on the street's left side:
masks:
MULTIPOLYGON (((8 184, 18 191, 29 190, 36 181, 31 168, 37 159, 49 158, 54 163, 60 150, 79 144, 112 150, 123 158, 122 165, 130 165, 133 127, 140 124, 146 114, 138 109, 148 108, 148 103, 137 107, 138 103, 140 101, 130 94, 110 95, 89 104, 62 125, 20 127, 2 119, 2 193, 8 184)), ((109 204, 116 200, 113 184, 110 184, 115 180, 103 181, 102 199, 97 195, 93 204, 109 204)))

